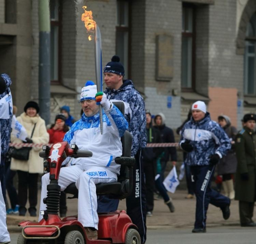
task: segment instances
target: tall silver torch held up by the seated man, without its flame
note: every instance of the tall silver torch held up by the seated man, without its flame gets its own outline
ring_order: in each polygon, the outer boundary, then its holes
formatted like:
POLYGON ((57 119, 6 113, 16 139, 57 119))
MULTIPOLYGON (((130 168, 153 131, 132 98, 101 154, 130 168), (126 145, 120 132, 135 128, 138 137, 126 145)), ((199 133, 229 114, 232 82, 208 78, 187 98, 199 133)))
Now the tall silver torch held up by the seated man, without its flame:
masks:
MULTIPOLYGON (((101 52, 101 34, 98 25, 95 25, 95 72, 96 72, 96 85, 97 92, 102 92, 102 52, 101 52)), ((103 118, 102 106, 99 105, 100 113, 100 133, 103 134, 103 118)))

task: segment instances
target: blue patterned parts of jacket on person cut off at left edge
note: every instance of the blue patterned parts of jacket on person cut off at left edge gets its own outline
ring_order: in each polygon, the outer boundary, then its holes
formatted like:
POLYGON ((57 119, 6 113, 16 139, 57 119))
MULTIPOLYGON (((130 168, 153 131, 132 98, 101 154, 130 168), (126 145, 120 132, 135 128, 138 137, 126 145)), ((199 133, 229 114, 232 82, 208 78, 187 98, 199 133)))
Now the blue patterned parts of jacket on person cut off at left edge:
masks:
MULTIPOLYGON (((0 94, 0 99, 9 93, 9 87, 12 84, 11 78, 7 74, 1 74, 4 79, 7 89, 4 93, 0 94)), ((1 112, 1 108, 0 108, 1 112)), ((9 119, 0 119, 1 130, 1 154, 5 155, 9 149, 10 135, 11 135, 12 115, 9 119)))

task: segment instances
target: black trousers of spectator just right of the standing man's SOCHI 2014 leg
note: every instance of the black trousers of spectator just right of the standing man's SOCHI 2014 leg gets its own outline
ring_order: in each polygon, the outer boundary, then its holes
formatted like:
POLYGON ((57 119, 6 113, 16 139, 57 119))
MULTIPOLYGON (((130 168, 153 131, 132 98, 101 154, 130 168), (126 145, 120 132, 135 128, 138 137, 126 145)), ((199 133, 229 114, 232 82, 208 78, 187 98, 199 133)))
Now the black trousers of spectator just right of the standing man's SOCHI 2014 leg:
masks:
POLYGON ((151 212, 154 209, 155 163, 155 161, 143 161, 146 183, 146 209, 151 212))

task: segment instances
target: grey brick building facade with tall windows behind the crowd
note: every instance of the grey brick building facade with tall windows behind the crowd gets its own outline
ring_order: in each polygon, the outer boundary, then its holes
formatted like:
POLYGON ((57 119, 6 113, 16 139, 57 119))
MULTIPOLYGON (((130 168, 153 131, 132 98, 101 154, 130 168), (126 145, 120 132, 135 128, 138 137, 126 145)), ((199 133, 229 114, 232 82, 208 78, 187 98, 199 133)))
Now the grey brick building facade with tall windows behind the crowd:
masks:
MULTIPOLYGON (((95 81, 84 5, 100 27, 103 66, 119 55, 125 78, 167 126, 178 127, 196 100, 238 128, 256 112, 255 0, 50 0, 52 120, 62 105, 79 119, 81 87, 95 81)), ((39 99, 37 0, 0 0, 0 58, 19 114, 39 99)))

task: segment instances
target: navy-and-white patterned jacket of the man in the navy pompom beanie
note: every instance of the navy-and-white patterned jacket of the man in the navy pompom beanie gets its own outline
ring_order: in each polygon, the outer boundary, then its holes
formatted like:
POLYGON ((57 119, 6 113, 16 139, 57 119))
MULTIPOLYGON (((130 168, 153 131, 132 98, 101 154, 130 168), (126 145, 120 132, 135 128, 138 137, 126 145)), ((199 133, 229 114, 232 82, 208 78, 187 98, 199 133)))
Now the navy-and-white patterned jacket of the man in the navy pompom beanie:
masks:
POLYGON ((134 88, 131 80, 125 80, 118 90, 106 88, 107 98, 125 103, 125 118, 129 124, 129 132, 132 134, 131 156, 135 156, 139 149, 146 147, 146 113, 143 97, 134 88))

